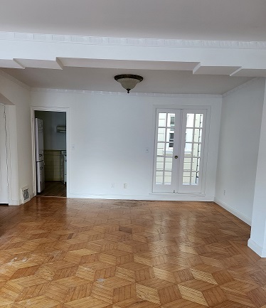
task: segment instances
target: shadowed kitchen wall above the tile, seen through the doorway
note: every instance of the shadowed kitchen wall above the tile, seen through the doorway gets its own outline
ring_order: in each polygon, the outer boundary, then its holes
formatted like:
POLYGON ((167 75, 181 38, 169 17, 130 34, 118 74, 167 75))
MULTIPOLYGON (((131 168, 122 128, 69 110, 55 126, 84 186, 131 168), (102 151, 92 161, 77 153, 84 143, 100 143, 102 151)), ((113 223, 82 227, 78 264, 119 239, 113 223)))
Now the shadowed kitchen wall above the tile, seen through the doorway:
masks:
POLYGON ((66 125, 65 112, 36 111, 35 117, 43 120, 44 149, 65 150, 65 133, 56 130, 56 127, 66 125))

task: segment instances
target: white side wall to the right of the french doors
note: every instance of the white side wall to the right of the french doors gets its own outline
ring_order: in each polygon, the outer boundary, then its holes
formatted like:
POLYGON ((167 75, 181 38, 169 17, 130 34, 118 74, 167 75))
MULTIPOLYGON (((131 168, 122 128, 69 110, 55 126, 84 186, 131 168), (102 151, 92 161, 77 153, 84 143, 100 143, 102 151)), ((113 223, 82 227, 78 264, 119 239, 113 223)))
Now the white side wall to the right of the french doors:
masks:
POLYGON ((264 91, 260 78, 223 97, 215 201, 249 224, 264 91))

